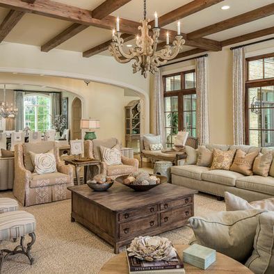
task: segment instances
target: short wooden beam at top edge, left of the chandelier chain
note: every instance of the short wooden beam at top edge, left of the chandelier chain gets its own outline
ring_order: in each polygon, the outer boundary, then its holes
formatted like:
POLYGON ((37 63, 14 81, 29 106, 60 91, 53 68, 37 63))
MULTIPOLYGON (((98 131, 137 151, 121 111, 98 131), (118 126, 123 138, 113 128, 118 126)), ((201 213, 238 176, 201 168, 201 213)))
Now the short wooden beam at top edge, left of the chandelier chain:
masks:
POLYGON ((92 17, 96 19, 103 19, 130 1, 131 0, 106 0, 100 6, 92 10, 92 17))

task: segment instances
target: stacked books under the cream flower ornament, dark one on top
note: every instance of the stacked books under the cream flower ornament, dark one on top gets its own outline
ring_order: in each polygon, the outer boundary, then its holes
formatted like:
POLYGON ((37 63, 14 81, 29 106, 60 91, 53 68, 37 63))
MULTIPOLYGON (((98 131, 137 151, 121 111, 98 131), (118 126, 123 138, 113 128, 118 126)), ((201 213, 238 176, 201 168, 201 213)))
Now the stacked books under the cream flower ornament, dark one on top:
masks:
POLYGON ((129 251, 127 251, 127 262, 129 264, 129 273, 136 274, 184 274, 184 264, 182 260, 177 257, 172 261, 142 261, 134 256, 129 257, 129 251))

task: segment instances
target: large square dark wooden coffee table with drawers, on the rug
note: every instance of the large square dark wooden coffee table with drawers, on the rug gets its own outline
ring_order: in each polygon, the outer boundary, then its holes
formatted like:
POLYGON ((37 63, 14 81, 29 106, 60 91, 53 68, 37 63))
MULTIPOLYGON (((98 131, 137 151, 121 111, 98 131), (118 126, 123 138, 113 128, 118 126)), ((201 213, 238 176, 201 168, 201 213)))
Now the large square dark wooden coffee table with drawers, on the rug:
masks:
POLYGON ((115 254, 136 236, 186 225, 194 213, 193 196, 198 193, 167 183, 145 192, 118 182, 105 192, 92 191, 87 185, 68 189, 72 191, 72 222, 76 220, 113 245, 115 254))

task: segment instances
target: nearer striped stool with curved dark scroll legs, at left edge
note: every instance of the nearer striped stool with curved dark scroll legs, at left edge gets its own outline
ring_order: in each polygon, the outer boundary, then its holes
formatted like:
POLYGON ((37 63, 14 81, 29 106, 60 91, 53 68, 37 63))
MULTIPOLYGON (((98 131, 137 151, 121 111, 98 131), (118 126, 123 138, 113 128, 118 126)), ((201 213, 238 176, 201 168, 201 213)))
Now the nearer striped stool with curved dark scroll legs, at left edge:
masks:
POLYGON ((0 273, 5 261, 10 255, 18 253, 26 255, 31 264, 31 248, 35 242, 35 227, 36 221, 31 213, 26 211, 8 211, 0 214, 0 242, 13 240, 21 237, 20 244, 14 250, 0 250, 0 273), (24 237, 29 234, 31 241, 24 246, 24 237))

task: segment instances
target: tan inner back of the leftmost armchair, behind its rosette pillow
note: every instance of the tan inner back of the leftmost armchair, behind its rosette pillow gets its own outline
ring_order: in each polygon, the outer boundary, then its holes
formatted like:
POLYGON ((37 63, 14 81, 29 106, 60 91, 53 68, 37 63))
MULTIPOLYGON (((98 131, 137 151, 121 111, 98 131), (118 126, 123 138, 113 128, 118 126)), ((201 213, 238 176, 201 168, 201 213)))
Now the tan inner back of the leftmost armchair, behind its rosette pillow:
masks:
POLYGON ((49 152, 49 150, 54 149, 54 141, 45 141, 40 143, 24 143, 22 146, 24 154, 24 166, 26 170, 33 172, 35 166, 31 161, 31 155, 29 154, 29 152, 31 151, 36 154, 49 152))

